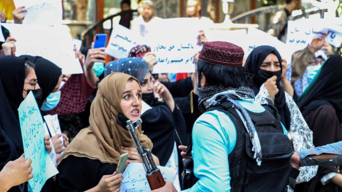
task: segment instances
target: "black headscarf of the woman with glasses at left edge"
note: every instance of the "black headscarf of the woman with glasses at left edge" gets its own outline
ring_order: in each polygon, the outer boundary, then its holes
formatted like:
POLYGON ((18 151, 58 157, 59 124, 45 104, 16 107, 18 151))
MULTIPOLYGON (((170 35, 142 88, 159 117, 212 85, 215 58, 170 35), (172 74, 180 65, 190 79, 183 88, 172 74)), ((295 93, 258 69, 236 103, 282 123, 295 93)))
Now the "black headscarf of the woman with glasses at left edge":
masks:
POLYGON ((18 118, 19 105, 24 100, 25 59, 23 57, 0 57, 0 124, 12 140, 17 155, 24 152, 18 118))

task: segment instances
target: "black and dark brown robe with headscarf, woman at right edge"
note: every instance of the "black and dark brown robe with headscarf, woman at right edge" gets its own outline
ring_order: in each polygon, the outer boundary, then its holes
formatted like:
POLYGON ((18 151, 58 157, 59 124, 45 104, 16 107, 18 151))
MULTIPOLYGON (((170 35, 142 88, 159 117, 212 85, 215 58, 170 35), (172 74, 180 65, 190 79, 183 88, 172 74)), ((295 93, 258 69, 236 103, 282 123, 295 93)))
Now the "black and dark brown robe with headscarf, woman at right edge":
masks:
MULTIPOLYGON (((342 57, 331 56, 321 68, 314 81, 300 97, 298 107, 313 131, 315 147, 342 140, 342 57)), ((322 185, 320 179, 328 173, 337 172, 333 166, 319 167, 317 175, 309 182, 298 184, 296 191, 341 191, 336 184, 322 185)))

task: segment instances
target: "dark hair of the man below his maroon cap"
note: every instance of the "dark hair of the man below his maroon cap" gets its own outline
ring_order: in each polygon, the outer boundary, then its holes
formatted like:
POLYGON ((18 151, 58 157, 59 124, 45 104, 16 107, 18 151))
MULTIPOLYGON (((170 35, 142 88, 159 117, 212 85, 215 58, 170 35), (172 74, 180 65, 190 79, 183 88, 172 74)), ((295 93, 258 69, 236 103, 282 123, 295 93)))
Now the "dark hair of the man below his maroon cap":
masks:
POLYGON ((200 84, 203 73, 209 86, 222 84, 225 87, 237 88, 241 85, 250 86, 253 82, 249 69, 244 67, 223 67, 206 63, 198 59, 198 84, 200 84))

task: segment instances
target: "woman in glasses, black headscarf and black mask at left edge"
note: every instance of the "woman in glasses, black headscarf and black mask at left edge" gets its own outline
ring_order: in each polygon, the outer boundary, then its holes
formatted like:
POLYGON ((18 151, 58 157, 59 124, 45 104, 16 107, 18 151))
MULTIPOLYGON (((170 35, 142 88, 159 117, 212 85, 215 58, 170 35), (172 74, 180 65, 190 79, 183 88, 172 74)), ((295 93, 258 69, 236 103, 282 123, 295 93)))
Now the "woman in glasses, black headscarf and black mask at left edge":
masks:
MULTIPOLYGON (((23 57, 0 57, 0 129, 6 138, 3 142, 14 145, 14 148, 0 146, 0 165, 2 165, 0 171, 6 163, 18 159, 24 153, 17 109, 30 91, 39 103, 42 90, 37 81, 35 64, 23 57)), ((52 149, 49 142, 50 136, 42 139, 44 139, 45 149, 50 153, 52 149)), ((27 183, 23 185, 21 187, 27 191, 27 183)), ((19 186, 15 186, 11 188, 11 191, 21 190, 19 186)))

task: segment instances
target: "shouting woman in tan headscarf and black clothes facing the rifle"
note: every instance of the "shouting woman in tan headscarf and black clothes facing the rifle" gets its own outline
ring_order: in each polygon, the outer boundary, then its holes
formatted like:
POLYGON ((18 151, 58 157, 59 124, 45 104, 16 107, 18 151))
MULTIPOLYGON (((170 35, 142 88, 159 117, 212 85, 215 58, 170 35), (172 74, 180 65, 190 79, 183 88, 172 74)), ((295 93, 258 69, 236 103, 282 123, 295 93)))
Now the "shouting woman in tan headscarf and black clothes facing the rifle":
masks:
MULTIPOLYGON (((58 161, 57 191, 120 190, 122 175, 114 172, 121 147, 134 147, 124 123, 140 118, 141 97, 139 81, 128 74, 112 73, 102 80, 91 105, 90 126, 77 134, 58 161)), ((136 133, 142 146, 152 149, 141 127, 136 133)))

